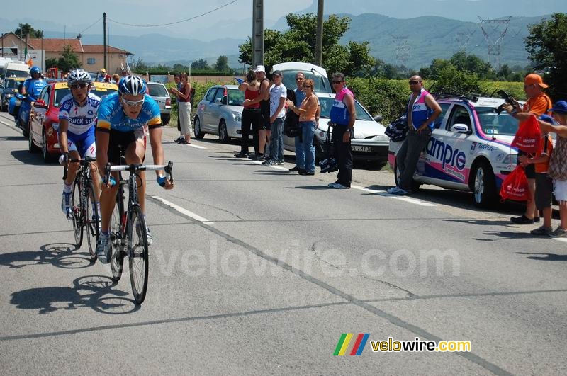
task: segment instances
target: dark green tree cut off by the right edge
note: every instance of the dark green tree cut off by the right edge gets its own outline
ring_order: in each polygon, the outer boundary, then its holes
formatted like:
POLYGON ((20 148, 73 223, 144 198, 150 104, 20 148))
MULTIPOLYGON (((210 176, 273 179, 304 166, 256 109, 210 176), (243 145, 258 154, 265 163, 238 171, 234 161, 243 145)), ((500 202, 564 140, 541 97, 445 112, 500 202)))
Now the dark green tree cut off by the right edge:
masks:
POLYGON ((534 68, 544 72, 551 98, 566 98, 567 14, 554 13, 549 20, 529 25, 525 45, 534 68))

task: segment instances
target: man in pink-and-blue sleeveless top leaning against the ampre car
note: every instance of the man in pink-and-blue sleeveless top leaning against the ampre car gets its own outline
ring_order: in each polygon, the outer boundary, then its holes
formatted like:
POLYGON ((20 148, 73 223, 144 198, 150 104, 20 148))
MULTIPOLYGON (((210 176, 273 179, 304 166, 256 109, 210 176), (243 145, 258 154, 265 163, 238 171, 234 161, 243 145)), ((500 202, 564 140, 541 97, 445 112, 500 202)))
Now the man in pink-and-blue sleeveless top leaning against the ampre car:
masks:
POLYGON ((388 193, 392 195, 407 195, 411 192, 415 166, 431 138, 434 120, 442 113, 439 103, 423 89, 423 80, 420 76, 412 76, 409 84, 412 91, 408 101, 409 130, 395 157, 399 181, 398 186, 388 189, 388 193))

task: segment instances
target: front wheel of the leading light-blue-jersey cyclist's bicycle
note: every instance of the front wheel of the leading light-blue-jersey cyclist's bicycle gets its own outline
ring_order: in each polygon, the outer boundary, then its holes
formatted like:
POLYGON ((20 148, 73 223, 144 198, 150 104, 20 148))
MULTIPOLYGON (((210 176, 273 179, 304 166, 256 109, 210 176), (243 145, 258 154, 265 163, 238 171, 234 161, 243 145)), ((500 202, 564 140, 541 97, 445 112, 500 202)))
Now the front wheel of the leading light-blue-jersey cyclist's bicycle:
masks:
POLYGON ((142 304, 146 297, 147 256, 146 222, 140 207, 133 207, 128 223, 128 265, 132 293, 137 304, 142 304))

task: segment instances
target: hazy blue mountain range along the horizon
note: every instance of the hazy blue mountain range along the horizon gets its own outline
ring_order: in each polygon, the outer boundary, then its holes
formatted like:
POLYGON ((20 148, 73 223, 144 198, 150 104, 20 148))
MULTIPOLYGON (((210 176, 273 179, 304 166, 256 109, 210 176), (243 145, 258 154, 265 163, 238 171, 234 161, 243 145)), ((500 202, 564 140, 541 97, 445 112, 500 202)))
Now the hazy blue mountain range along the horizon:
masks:
MULTIPOLYGON (((409 0, 410 3, 412 1, 417 0, 409 0)), ((449 0, 430 1, 428 4, 437 6, 437 3, 446 1, 449 0)), ((487 0, 474 2, 488 3, 487 0)), ((518 0, 518 6, 522 6, 524 2, 524 0, 518 0)), ((332 9, 334 3, 335 1, 326 1, 326 9, 332 9)), ((359 1, 354 1, 354 3, 359 3, 359 1)), ((493 3, 498 5, 499 0, 493 0, 493 3)), ((366 8, 372 8, 372 2, 365 4, 368 4, 366 8)), ((308 8, 307 11, 310 11, 310 9, 308 8)), ((363 13, 358 16, 341 14, 340 16, 351 18, 350 28, 340 40, 342 44, 349 41, 367 41, 371 55, 388 63, 404 64, 412 69, 428 66, 435 58, 447 59, 459 50, 488 60, 488 45, 494 45, 505 29, 500 62, 523 67, 529 63, 524 47, 524 38, 528 35, 527 26, 538 23, 543 18, 543 16, 513 17, 508 25, 481 25, 478 22, 459 21, 438 16, 394 18, 377 13, 363 13), (481 26, 487 33, 488 39, 483 35, 481 26)), ((218 56, 226 55, 231 67, 242 68, 242 64, 237 61, 238 46, 245 42, 246 38, 235 38, 234 35, 237 35, 237 33, 231 33, 231 30, 234 27, 241 31, 242 28, 251 29, 251 24, 245 21, 234 21, 234 23, 227 24, 224 27, 218 24, 211 25, 211 27, 215 30, 214 32, 203 30, 203 33, 191 35, 193 38, 182 38, 162 33, 137 36, 111 34, 108 44, 128 50, 135 54, 134 59, 140 58, 150 64, 172 65, 175 62, 189 64, 189 62, 201 58, 214 63, 218 56)), ((285 18, 276 21, 271 28, 286 30, 285 18)), ((43 30, 45 38, 64 37, 63 33, 43 30)), ((249 34, 252 34, 251 31, 249 34)), ((67 33, 67 38, 70 36, 69 34, 67 33)), ((74 35, 72 36, 74 37, 74 35)), ((102 35, 82 35, 82 43, 84 45, 100 45, 102 44, 102 35)), ((495 64, 493 61, 493 65, 495 64)))

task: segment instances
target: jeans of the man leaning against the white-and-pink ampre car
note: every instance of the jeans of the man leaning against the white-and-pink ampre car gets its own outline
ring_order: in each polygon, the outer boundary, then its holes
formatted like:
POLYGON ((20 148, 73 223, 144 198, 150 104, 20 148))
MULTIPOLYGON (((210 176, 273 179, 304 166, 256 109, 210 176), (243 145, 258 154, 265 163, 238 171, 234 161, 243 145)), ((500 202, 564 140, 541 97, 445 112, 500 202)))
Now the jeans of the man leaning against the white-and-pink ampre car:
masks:
POLYGON ((398 171, 400 171, 399 187, 404 190, 412 189, 413 173, 415 171, 415 166, 417 166, 417 161, 420 160, 420 154, 423 149, 427 146, 427 142, 430 141, 431 130, 423 130, 420 133, 415 132, 415 130, 409 130, 408 135, 398 150, 398 155, 395 156, 395 164, 398 166, 398 171))

